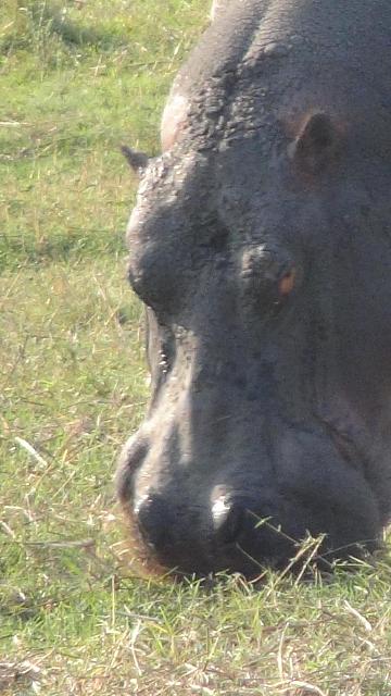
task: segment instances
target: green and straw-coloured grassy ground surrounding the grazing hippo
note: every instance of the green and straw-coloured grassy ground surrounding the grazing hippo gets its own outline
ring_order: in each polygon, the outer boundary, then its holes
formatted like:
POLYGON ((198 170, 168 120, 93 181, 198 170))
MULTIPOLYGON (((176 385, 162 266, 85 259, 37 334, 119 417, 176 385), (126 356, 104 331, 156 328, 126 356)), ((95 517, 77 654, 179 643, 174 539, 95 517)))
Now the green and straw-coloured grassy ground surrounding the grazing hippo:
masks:
POLYGON ((391 561, 333 582, 134 577, 118 449, 147 399, 135 185, 206 0, 0 5, 0 692, 390 696, 391 561))

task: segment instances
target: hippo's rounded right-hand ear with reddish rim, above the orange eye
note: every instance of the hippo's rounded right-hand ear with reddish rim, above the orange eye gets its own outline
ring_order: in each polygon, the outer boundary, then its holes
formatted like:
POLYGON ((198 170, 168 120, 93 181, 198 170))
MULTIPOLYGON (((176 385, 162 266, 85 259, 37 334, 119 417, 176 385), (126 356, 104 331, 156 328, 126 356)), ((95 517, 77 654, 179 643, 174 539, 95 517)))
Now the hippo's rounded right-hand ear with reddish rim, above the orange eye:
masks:
POLYGON ((336 158, 340 144, 332 120, 326 113, 312 114, 292 144, 291 157, 310 173, 317 173, 336 158))

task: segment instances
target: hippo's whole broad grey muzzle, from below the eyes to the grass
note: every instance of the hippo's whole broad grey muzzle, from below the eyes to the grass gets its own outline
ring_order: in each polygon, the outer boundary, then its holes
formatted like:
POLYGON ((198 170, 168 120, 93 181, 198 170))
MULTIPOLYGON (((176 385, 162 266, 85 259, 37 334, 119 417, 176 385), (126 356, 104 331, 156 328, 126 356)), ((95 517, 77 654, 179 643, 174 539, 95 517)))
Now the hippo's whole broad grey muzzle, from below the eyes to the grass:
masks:
POLYGON ((144 556, 177 573, 254 577, 285 568, 308 533, 325 534, 316 557, 325 569, 375 548, 378 505, 337 431, 282 419, 265 374, 262 388, 255 373, 244 386, 230 362, 219 380, 190 368, 192 381, 180 351, 177 360, 117 474, 144 556))

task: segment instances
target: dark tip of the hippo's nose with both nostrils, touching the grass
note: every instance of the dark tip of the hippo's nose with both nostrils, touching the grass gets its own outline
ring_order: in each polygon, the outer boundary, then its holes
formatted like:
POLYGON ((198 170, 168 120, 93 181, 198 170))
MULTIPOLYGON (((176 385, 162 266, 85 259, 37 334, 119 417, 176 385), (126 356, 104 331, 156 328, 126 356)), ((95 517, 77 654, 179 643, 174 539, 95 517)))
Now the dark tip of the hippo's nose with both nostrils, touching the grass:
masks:
POLYGON ((212 505, 175 498, 150 493, 134 506, 140 536, 162 567, 185 574, 237 571, 252 576, 260 572, 261 558, 277 567, 294 555, 291 540, 268 523, 273 518, 253 512, 260 501, 250 496, 231 494, 212 505))

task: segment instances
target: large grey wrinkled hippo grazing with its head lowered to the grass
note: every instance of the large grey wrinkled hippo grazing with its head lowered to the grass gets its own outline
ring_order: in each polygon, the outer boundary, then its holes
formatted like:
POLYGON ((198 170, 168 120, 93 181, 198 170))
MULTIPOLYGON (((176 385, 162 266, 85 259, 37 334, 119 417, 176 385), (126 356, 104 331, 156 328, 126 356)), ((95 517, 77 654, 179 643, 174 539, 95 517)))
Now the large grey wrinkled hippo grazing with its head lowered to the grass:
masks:
POLYGON ((162 154, 124 148, 151 398, 116 487, 147 567, 254 579, 390 518, 391 3, 212 16, 162 154))

